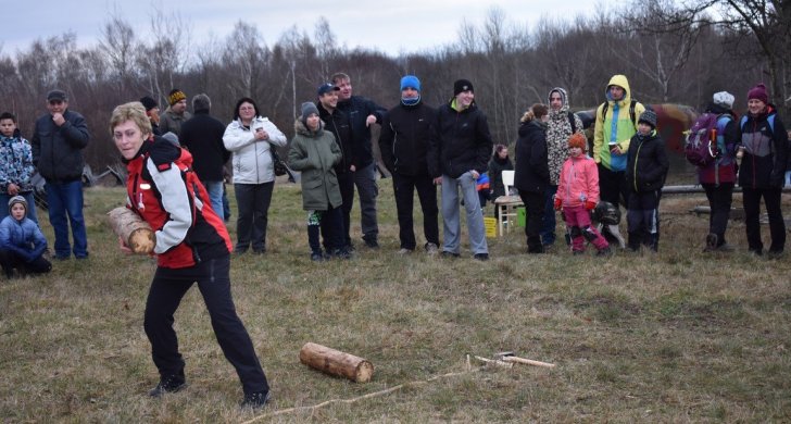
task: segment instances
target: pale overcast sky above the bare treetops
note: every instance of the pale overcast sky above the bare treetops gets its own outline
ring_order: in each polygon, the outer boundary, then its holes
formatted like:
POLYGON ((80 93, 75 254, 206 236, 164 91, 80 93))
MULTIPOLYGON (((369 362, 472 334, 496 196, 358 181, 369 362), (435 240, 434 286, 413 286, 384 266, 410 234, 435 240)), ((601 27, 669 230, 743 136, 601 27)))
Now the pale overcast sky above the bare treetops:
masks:
POLYGON ((150 33, 151 15, 176 13, 189 24, 193 46, 212 37, 225 39, 234 25, 255 25, 267 46, 296 25, 313 38, 321 16, 328 22, 338 45, 363 47, 397 55, 453 42, 463 22, 480 27, 489 10, 498 5, 507 23, 532 28, 542 17, 573 18, 592 15, 600 0, 3 0, 0 54, 15 55, 30 42, 63 35, 77 35, 80 47, 93 46, 101 27, 115 14, 131 24, 138 37, 150 33))

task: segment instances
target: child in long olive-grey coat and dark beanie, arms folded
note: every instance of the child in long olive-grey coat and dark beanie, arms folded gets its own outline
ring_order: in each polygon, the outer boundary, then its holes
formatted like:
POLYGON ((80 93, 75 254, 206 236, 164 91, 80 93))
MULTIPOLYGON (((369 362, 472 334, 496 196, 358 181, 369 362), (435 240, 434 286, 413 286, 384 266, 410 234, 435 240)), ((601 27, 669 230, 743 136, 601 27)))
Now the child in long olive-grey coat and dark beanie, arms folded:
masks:
POLYGON ((332 133, 324 129, 318 109, 312 102, 302 103, 302 113, 294 122, 294 137, 288 151, 288 164, 302 177, 302 208, 307 211, 307 244, 311 260, 323 261, 330 254, 349 258, 343 242, 342 199, 335 165, 342 153, 332 133), (327 248, 322 253, 319 230, 327 248))

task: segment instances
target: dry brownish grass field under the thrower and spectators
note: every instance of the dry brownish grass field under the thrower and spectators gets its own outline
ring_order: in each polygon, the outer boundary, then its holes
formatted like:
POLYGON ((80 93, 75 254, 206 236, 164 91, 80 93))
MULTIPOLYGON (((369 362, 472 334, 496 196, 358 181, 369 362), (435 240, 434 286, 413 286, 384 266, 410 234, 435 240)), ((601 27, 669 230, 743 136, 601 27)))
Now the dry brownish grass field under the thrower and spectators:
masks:
POLYGON ((748 254, 738 222, 737 252, 702 253, 707 217, 688 212, 702 197, 663 200, 658 254, 527 255, 514 232, 490 239, 481 263, 468 251, 395 254, 390 180, 380 188, 379 250, 362 247, 355 204, 355 258, 312 263, 299 187, 278 184, 268 252, 233 259, 237 309, 274 395, 258 413, 238 408, 241 387, 197 289, 176 314, 189 387, 146 396, 158 381, 142 331, 154 263, 123 255, 105 222, 123 190, 87 189, 90 259, 0 283, 3 422, 791 421, 789 254, 748 254), (307 341, 368 359, 373 381, 300 364, 307 341), (467 366, 468 353, 503 350, 557 366, 467 366))

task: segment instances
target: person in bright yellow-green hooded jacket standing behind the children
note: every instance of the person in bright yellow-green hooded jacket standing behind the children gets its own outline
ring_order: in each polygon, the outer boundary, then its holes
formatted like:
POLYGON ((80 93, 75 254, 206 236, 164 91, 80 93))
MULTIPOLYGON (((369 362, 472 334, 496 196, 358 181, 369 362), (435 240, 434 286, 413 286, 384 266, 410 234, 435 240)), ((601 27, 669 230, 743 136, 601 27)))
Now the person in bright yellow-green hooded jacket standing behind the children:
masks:
MULTIPOLYGON (((593 160, 599 167, 599 185, 602 200, 627 204, 626 187, 626 152, 629 140, 637 133, 637 117, 645 107, 631 99, 629 82, 625 75, 614 75, 604 92, 606 101, 597 109, 597 121, 593 130, 593 160), (622 201, 623 197, 623 201, 622 201)), ((616 225, 605 226, 604 236, 608 241, 618 241, 624 247, 624 238, 616 225)))

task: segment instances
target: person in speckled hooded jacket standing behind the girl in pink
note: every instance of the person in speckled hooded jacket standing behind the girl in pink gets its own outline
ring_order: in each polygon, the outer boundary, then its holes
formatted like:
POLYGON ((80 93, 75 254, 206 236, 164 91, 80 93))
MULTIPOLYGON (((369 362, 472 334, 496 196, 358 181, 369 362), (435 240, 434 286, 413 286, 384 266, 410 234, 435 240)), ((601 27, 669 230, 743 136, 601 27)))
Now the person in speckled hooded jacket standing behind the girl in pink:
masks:
POLYGON ((550 113, 547 122, 547 161, 550 167, 550 184, 544 196, 544 216, 541 226, 541 242, 551 247, 555 242, 554 197, 563 163, 568 158, 568 137, 574 133, 583 134, 582 121, 569 110, 568 95, 561 87, 550 90, 548 96, 550 113))

